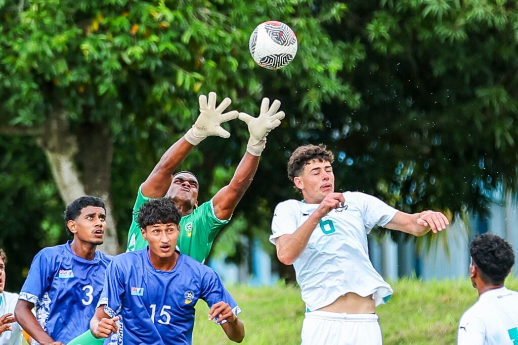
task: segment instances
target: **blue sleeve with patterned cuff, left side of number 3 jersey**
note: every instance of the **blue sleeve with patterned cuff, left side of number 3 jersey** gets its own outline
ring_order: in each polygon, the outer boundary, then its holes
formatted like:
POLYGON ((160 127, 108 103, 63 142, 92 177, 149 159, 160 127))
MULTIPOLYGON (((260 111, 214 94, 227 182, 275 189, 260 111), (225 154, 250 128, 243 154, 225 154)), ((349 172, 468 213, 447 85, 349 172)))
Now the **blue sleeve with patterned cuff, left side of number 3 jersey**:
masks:
POLYGON ((36 254, 20 291, 20 299, 37 305, 53 279, 53 262, 42 250, 36 254))

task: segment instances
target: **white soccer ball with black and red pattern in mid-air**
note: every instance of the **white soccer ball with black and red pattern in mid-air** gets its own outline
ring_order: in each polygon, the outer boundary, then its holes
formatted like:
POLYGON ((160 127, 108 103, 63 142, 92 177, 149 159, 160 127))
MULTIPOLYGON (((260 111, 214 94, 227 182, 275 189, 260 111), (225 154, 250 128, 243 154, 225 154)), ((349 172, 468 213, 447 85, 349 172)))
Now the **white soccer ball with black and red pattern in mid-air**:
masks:
POLYGON ((292 62, 297 54, 297 36, 286 24, 270 20, 257 25, 248 48, 259 66, 279 69, 292 62))

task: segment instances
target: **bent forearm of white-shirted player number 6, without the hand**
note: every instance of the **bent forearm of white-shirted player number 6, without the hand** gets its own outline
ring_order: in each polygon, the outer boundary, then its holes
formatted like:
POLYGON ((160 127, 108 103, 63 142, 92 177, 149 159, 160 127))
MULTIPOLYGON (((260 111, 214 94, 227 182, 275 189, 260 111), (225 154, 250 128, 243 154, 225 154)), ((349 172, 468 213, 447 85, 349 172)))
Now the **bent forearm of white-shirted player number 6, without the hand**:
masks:
POLYGON ((291 265, 298 259, 300 253, 306 248, 313 230, 320 219, 316 212, 309 216, 293 234, 284 235, 277 239, 277 258, 285 265, 291 265), (283 237, 283 238, 282 238, 283 237), (282 238, 282 239, 281 239, 282 238), (281 239, 281 241, 279 241, 281 239))

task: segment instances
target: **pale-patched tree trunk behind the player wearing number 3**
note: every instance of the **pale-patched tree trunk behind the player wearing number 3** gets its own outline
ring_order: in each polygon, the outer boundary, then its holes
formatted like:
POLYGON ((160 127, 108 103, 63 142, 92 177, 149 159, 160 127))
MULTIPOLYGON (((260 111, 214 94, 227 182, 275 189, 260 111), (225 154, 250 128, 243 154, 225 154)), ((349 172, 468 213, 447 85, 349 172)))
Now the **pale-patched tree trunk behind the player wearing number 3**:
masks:
POLYGON ((115 255, 119 253, 119 242, 109 197, 113 145, 109 129, 100 127, 94 124, 81 126, 76 134, 69 129, 66 112, 52 111, 39 144, 66 204, 87 194, 104 201, 107 230, 104 244, 99 249, 115 255), (81 173, 76 161, 80 163, 81 173))

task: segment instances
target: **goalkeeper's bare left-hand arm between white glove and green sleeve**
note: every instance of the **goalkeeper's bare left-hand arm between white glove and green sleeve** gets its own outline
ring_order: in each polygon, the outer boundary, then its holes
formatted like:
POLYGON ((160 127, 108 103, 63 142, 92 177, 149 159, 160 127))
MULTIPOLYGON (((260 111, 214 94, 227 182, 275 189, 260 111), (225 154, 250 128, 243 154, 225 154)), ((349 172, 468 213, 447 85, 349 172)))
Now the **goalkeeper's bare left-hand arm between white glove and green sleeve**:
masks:
POLYGON ((171 185, 171 175, 189 155, 194 146, 180 138, 162 155, 153 171, 142 184, 142 194, 148 198, 162 198, 171 185))

